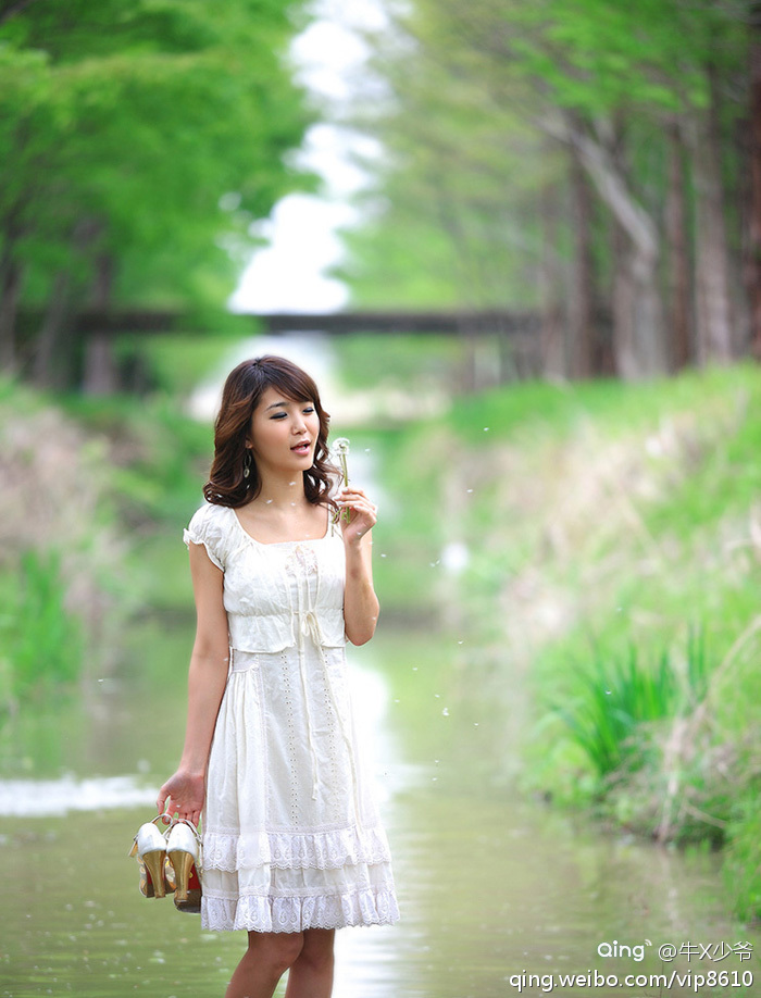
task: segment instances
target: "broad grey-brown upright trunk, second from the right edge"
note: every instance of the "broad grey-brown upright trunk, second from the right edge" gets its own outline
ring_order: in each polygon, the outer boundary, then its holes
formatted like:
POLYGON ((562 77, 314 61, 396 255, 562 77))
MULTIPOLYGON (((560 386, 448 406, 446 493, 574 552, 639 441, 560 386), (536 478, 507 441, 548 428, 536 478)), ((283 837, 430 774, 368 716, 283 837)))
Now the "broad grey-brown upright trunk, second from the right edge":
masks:
POLYGON ((696 190, 696 327, 700 363, 733 357, 729 262, 724 216, 715 70, 708 70, 711 102, 693 129, 696 190))

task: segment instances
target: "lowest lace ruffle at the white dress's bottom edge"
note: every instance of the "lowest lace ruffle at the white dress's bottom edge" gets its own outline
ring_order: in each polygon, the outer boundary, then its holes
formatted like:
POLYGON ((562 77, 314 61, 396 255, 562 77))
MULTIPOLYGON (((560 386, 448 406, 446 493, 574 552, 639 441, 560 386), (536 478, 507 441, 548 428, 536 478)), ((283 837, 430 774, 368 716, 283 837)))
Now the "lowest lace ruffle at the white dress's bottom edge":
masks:
POLYGON ((212 932, 303 932, 350 925, 391 925, 399 920, 394 890, 363 887, 333 897, 201 899, 201 927, 212 932))

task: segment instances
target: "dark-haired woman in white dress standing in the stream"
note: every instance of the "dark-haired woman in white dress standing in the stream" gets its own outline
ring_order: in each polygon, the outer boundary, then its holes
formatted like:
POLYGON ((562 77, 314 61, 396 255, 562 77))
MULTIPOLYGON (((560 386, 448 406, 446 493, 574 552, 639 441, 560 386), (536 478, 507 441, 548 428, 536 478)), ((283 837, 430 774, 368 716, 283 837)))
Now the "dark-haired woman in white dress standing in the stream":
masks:
POLYGON ((203 927, 248 930, 226 998, 270 998, 287 969, 287 998, 328 998, 335 930, 399 916, 344 649, 375 631, 376 509, 353 487, 329 498, 328 419, 290 361, 239 364, 185 533, 198 624, 158 807, 203 818, 203 927))

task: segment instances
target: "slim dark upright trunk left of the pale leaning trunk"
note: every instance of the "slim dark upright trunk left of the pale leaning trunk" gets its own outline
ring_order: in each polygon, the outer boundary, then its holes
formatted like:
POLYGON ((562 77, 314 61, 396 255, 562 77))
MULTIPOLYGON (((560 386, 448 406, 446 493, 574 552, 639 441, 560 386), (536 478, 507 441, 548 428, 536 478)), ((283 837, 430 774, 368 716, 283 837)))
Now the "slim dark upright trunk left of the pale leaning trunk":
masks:
POLYGON ((591 191, 577 154, 571 155, 571 196, 574 259, 569 300, 571 371, 574 377, 595 373, 595 265, 592 259, 591 191))

